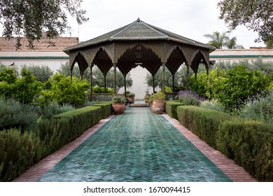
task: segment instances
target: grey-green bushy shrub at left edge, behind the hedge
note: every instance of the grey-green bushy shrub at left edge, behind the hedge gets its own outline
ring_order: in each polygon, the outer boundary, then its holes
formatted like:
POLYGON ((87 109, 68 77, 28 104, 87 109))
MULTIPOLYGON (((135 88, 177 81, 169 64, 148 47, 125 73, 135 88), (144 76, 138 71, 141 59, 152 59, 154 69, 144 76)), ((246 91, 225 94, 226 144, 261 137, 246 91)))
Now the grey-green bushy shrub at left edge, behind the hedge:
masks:
POLYGON ((0 97, 0 130, 10 128, 33 129, 38 117, 38 113, 35 111, 34 106, 0 97))

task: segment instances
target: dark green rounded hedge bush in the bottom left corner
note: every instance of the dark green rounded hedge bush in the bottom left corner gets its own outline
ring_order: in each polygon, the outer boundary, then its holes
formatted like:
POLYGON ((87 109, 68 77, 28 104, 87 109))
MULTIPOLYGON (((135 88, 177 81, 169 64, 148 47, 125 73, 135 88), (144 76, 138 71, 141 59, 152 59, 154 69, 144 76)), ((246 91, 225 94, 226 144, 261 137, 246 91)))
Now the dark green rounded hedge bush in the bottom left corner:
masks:
POLYGON ((41 141, 31 132, 12 129, 0 132, 0 181, 20 176, 43 156, 41 141))

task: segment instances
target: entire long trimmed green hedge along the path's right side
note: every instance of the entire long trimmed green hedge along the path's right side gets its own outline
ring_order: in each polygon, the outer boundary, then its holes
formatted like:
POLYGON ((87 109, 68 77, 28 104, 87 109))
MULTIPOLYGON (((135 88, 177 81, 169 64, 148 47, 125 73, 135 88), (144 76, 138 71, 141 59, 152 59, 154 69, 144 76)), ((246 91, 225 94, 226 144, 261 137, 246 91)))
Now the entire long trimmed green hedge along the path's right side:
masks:
POLYGON ((258 181, 273 181, 273 126, 196 106, 179 106, 179 122, 232 158, 258 181))

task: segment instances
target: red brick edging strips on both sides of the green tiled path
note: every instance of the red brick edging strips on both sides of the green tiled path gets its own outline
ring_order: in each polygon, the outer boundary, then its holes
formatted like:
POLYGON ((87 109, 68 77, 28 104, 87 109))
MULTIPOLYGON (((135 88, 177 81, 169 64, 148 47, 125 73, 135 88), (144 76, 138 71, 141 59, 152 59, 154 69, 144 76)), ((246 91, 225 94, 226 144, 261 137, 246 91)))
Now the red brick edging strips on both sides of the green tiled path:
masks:
MULTIPOLYGON (((124 120, 126 120, 125 116, 130 115, 131 111, 132 111, 132 109, 129 109, 129 110, 127 109, 127 113, 125 113, 123 116, 118 116, 118 118, 123 119, 122 117, 124 117, 124 120)), ((251 178, 251 176, 249 176, 244 171, 244 169, 242 167, 235 165, 235 162, 233 160, 226 158, 219 151, 215 151, 213 148, 209 147, 206 143, 204 143, 203 141, 198 139, 198 137, 195 136, 195 134, 186 130, 185 127, 180 125, 177 120, 169 118, 169 116, 167 116, 166 114, 162 115, 162 116, 164 118, 166 118, 169 121, 169 123, 174 125, 174 127, 176 127, 176 129, 179 130, 189 141, 191 141, 202 153, 204 153, 204 155, 206 155, 207 158, 209 158, 209 160, 211 160, 211 162, 214 162, 214 164, 218 168, 220 168, 227 176, 229 176, 229 178, 232 179, 232 181, 255 181, 255 179, 251 178)), ((157 118, 159 118, 159 119, 161 117, 157 116, 157 118)), ((77 148, 80 144, 83 144, 83 141, 86 141, 86 139, 88 139, 90 137, 90 135, 94 134, 94 132, 99 130, 99 128, 102 127, 102 125, 104 125, 106 122, 111 120, 111 118, 113 118, 113 116, 110 116, 106 120, 101 120, 99 122, 99 124, 95 125, 90 130, 87 130, 81 137, 79 137, 75 141, 72 141, 70 144, 67 144, 66 146, 61 148, 59 151, 53 153, 52 155, 49 155, 47 158, 41 160, 40 162, 38 162, 38 164, 34 165, 34 167, 31 167, 31 169, 29 169, 27 172, 22 174, 18 179, 15 179, 15 181, 37 181, 38 179, 41 178, 41 176, 43 176, 43 174, 45 174, 50 169, 52 169, 52 167, 54 167, 54 166, 56 167, 57 163, 60 160, 62 160, 63 158, 67 158, 68 157, 67 155, 69 155, 69 153, 71 153, 71 151, 73 151, 75 148, 77 148)), ((116 118, 117 117, 115 117, 115 119, 116 118)), ((115 120, 115 119, 113 119, 113 120, 115 120)), ((109 123, 111 123, 113 120, 111 120, 109 123)), ((139 121, 137 123, 139 123, 139 121)), ((137 125, 137 123, 136 123, 136 125, 137 125)), ((120 125, 123 126, 122 123, 120 123, 120 125)), ((169 126, 169 125, 167 125, 167 126, 169 126)), ((103 128, 105 129, 105 127, 103 127, 103 128)), ((112 128, 113 128, 113 126, 112 126, 112 128)), ((164 128, 162 127, 162 129, 164 129, 164 128)), ((169 129, 169 127, 168 127, 168 129, 169 129)), ((129 146, 132 146, 132 145, 130 144, 129 146)), ((85 147, 83 147, 83 148, 85 148, 85 147)), ((111 153, 111 154, 113 154, 113 153, 111 153)), ((115 157, 113 157, 113 159, 115 159, 115 157)), ((130 164, 135 164, 135 163, 131 162, 130 164)), ((60 165, 60 163, 59 163, 59 165, 60 165)), ((105 162, 102 163, 102 165, 105 165, 105 162)), ((112 167, 112 165, 111 165, 111 167, 112 167)), ((137 166, 134 165, 134 167, 137 167, 137 166)), ((141 169, 141 167, 139 167, 139 168, 141 169)), ((155 165, 151 165, 151 167, 155 167, 155 165)), ((164 173, 162 173, 162 175, 163 174, 164 173)), ((172 172, 171 172, 171 174, 172 174, 172 172)), ((105 174, 104 174, 104 176, 105 176, 105 174)), ((103 180, 105 180, 105 179, 102 179, 102 181, 103 180)), ((136 181, 136 179, 130 179, 130 180, 136 181)), ((137 179, 137 180, 145 181, 145 179, 143 179, 143 177, 142 177, 142 179, 137 179)), ((150 180, 152 181, 153 179, 149 179, 149 181, 150 180)), ((54 180, 52 180, 52 181, 54 181, 54 180)), ((96 180, 96 181, 98 181, 98 180, 96 180)), ((127 179, 126 181, 129 181, 129 180, 127 179)))

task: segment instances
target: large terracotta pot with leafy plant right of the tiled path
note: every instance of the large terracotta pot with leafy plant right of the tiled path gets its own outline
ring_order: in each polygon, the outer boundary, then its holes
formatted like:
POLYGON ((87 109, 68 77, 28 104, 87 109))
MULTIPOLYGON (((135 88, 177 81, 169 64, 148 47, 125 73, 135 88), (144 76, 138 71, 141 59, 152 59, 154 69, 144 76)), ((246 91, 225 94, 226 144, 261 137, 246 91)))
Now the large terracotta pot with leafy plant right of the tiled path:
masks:
POLYGON ((166 95, 160 91, 155 94, 152 94, 149 99, 151 106, 151 111, 153 113, 163 113, 165 108, 165 98, 166 95))

